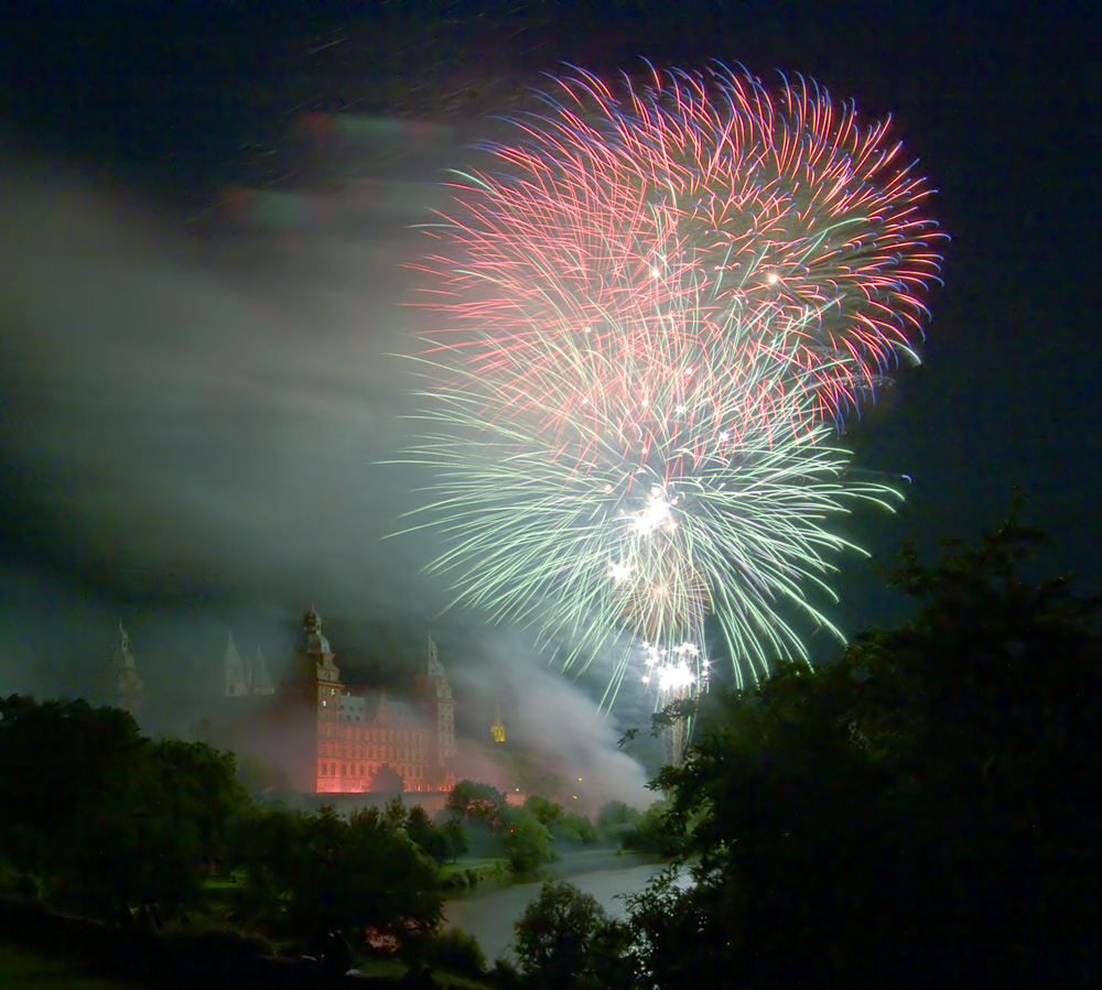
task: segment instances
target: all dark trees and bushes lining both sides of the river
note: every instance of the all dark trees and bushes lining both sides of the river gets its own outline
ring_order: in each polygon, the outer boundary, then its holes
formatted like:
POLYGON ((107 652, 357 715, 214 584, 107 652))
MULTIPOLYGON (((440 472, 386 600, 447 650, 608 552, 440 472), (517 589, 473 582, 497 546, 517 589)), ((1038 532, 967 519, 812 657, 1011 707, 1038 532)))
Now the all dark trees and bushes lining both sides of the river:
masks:
POLYGON ((473 781, 435 819, 269 807, 231 754, 0 698, 0 945, 148 990, 1099 984, 1102 597, 1038 578, 1046 546, 1012 516, 905 550, 909 621, 670 706, 666 798, 595 822, 473 781), (616 847, 676 867, 623 917, 569 882, 616 847), (450 894, 545 874, 512 958, 445 926, 450 894))

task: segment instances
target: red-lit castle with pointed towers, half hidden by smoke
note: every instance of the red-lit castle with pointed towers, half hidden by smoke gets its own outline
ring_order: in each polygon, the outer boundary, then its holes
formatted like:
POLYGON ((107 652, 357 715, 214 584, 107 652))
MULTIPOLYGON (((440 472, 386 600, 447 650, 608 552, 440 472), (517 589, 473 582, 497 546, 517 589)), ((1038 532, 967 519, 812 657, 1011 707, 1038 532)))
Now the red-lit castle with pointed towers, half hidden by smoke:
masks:
MULTIPOLYGON (((282 743, 292 740, 290 753, 285 744, 263 748, 285 754, 281 769, 298 791, 451 791, 455 699, 432 638, 414 673, 412 698, 395 699, 385 690, 360 696, 342 681, 314 608, 302 624, 302 639, 278 690, 263 654, 258 650, 247 665, 230 637, 223 659, 220 706, 220 720, 235 724, 237 731, 230 735, 237 740, 262 736, 282 743)), ((102 700, 137 715, 142 683, 121 623, 100 683, 102 700)))

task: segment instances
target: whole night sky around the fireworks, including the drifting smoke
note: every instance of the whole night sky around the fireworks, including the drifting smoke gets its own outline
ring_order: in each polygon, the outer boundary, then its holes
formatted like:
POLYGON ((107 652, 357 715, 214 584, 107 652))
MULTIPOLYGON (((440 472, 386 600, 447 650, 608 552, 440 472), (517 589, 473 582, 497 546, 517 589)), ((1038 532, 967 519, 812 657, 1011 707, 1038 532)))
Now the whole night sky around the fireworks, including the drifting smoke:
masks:
MULTIPOLYGON (((311 598, 365 679, 404 670, 431 627, 445 662, 462 657, 461 692, 468 677, 488 698, 482 673, 512 673, 519 711, 533 685, 559 689, 521 638, 430 620, 443 590, 417 576, 425 547, 380 543, 408 499, 377 461, 409 410, 387 356, 413 318, 397 265, 415 210, 292 237, 218 210, 235 187, 310 192, 288 148, 304 110, 444 135, 366 166, 424 183, 428 204, 440 168, 559 62, 803 73, 890 113, 939 191, 952 240, 925 363, 845 437, 862 468, 914 485, 898 516, 846 523, 873 558, 842 562, 843 628, 906 616, 878 572, 900 542, 974 538, 1015 487, 1054 566, 1099 574, 1096 3, 6 10, 0 694, 79 692, 120 617, 163 690, 228 629, 278 672, 311 598)), ((562 697, 584 720, 583 696, 562 697)))

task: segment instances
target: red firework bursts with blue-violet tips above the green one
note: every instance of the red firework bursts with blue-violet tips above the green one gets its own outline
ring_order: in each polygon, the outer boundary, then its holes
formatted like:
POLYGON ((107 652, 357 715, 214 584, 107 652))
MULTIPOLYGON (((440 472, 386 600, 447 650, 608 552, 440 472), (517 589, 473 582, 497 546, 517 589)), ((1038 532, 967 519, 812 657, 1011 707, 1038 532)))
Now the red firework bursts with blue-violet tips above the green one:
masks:
POLYGON ((455 331, 474 330, 458 346, 475 367, 553 374, 586 327, 590 346, 622 336, 625 307, 625 346, 640 346, 671 331, 688 284, 703 346, 767 348, 812 372, 818 415, 911 353, 936 235, 886 123, 862 130, 803 83, 775 105, 722 72, 656 76, 619 105, 588 76, 561 86, 521 143, 496 150, 507 173, 456 186, 465 263, 433 268, 455 331))

